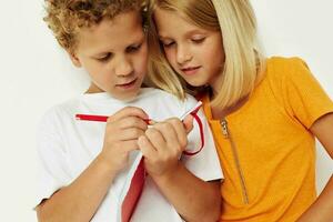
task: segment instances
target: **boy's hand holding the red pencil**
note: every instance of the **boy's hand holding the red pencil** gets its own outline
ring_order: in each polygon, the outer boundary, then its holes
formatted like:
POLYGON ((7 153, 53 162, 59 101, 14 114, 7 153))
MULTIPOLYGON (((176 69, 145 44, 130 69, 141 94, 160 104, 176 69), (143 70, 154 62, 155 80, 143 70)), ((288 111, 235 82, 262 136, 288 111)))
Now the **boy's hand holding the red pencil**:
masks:
POLYGON ((138 139, 144 134, 147 113, 140 108, 128 107, 108 119, 103 149, 100 158, 118 172, 128 163, 129 152, 139 149, 138 139))

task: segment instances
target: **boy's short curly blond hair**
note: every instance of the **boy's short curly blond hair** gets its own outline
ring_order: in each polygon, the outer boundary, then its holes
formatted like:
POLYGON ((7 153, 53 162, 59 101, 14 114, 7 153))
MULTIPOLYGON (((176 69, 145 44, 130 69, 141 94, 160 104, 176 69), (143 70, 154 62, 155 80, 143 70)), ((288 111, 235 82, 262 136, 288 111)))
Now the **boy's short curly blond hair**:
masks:
POLYGON ((43 20, 52 30, 59 44, 69 52, 78 46, 78 32, 103 19, 120 13, 144 9, 144 0, 46 0, 47 16, 43 20))

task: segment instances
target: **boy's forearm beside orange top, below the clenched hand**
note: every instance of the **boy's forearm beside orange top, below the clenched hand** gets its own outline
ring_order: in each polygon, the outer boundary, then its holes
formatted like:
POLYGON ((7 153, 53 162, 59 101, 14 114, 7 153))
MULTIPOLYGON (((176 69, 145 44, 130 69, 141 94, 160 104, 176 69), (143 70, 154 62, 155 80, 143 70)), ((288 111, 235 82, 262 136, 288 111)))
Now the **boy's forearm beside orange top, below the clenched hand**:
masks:
POLYGON ((168 175, 153 178, 162 193, 182 218, 189 222, 213 221, 220 216, 220 182, 205 182, 183 164, 168 175))

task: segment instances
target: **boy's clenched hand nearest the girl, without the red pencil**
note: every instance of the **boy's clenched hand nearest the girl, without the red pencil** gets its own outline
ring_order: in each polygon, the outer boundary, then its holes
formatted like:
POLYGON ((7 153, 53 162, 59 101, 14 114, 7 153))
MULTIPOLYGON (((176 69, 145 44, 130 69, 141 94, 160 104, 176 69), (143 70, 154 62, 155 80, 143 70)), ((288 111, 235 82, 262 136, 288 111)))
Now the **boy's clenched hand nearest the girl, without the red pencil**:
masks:
POLYGON ((186 148, 188 133, 193 128, 193 118, 182 122, 178 118, 155 123, 139 138, 139 148, 144 157, 145 170, 151 176, 168 175, 176 170, 179 159, 186 148))

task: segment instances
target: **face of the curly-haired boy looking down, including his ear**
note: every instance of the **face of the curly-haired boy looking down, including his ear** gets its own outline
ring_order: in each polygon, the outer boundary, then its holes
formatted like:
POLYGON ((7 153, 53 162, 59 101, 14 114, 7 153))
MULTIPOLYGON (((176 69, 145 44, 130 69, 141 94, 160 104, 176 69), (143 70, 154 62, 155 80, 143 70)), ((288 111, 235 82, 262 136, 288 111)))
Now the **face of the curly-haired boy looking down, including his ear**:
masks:
POLYGON ((109 92, 120 100, 133 99, 147 73, 148 48, 139 12, 80 30, 71 59, 91 78, 90 93, 109 92))

